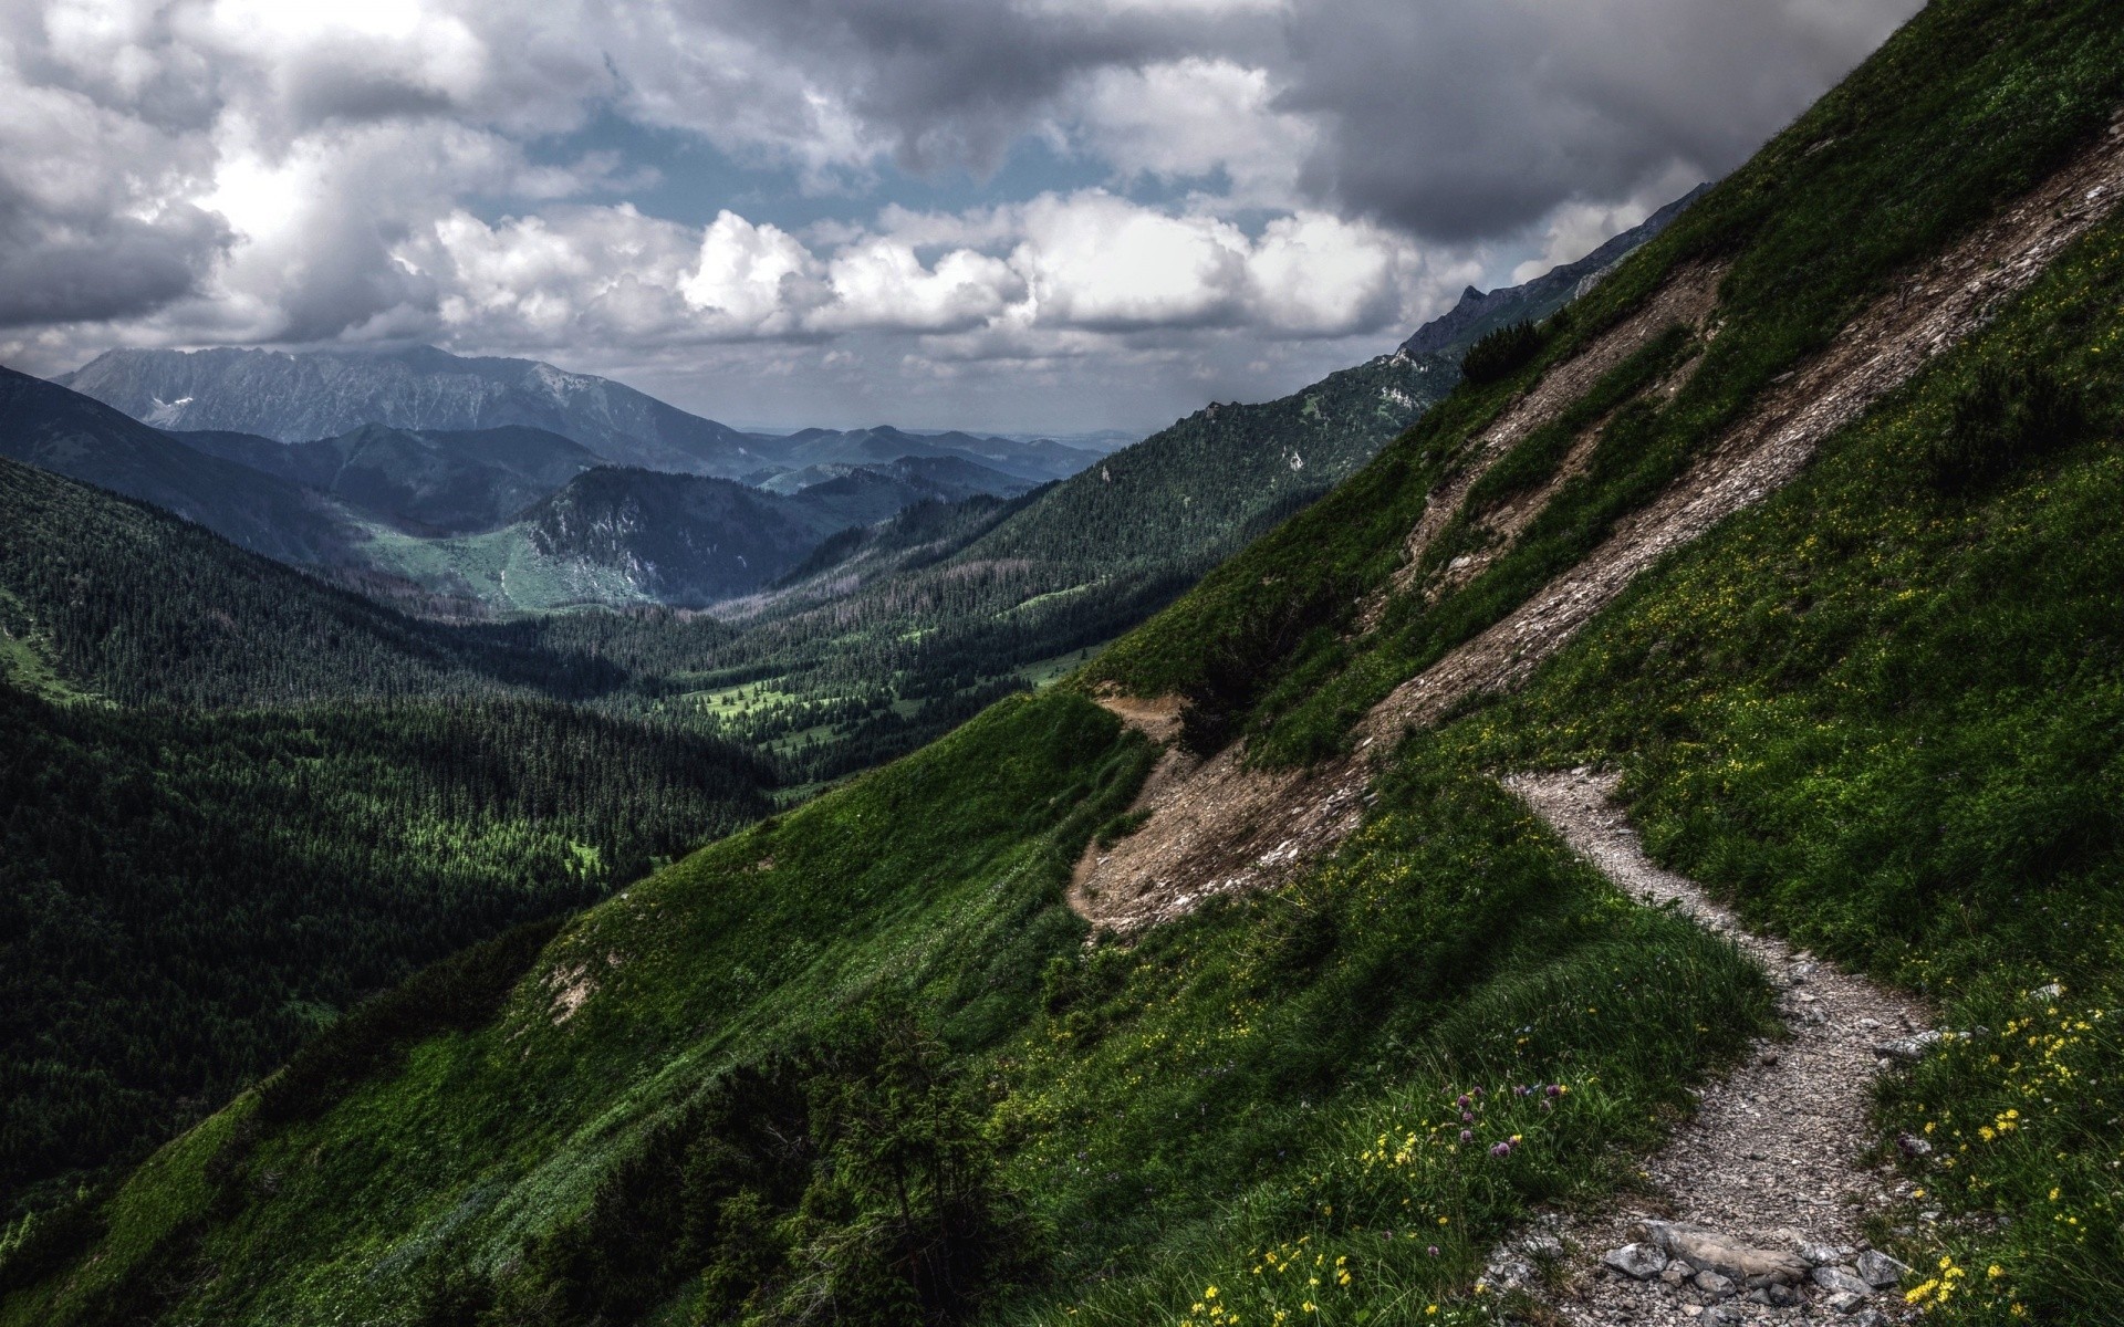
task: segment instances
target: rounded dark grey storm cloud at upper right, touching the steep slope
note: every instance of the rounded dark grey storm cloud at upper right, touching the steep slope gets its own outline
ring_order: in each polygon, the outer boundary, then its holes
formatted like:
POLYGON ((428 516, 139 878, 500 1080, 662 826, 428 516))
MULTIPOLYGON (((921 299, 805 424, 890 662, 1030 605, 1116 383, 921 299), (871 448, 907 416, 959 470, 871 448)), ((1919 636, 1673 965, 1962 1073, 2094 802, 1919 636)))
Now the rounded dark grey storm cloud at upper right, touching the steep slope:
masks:
POLYGON ((1323 0, 1289 23, 1283 104, 1328 121, 1313 193, 1470 240, 1731 170, 1916 8, 1323 0))

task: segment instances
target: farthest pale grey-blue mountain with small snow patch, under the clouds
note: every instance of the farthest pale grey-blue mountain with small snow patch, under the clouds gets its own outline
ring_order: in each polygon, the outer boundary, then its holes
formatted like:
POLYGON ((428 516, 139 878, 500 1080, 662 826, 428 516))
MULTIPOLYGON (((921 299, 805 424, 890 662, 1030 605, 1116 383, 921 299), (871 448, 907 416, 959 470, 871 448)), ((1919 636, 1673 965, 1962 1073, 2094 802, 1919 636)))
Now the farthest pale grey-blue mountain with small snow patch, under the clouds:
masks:
POLYGON ((531 359, 410 350, 108 350, 55 378, 159 429, 338 437, 361 425, 410 431, 529 427, 614 465, 739 476, 752 437, 631 386, 531 359))

